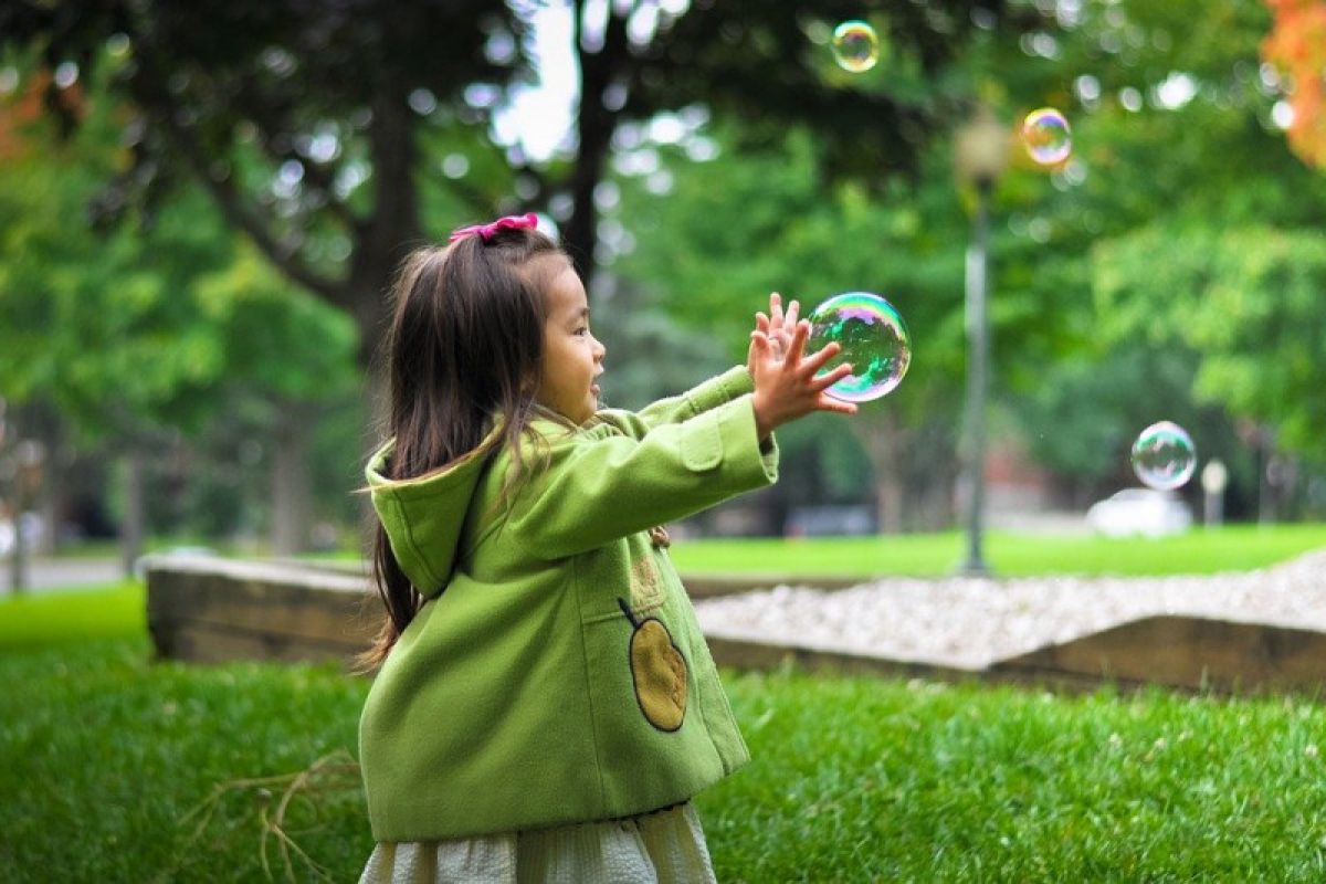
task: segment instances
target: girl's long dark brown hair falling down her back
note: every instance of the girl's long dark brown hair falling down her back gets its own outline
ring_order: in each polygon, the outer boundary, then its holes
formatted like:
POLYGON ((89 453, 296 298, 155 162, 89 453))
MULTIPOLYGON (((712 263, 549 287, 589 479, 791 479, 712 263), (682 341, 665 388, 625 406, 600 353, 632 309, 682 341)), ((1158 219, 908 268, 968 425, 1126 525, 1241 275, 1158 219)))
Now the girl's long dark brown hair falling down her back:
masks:
MULTIPOLYGON (((392 286, 394 314, 383 341, 390 411, 385 437, 395 439, 387 478, 416 478, 475 452, 512 451, 511 489, 522 470, 520 437, 537 406, 546 306, 544 289, 566 254, 533 229, 500 229, 487 241, 465 236, 416 250, 392 286)), ((480 452, 481 453, 481 452, 480 452)), ((386 660, 418 614, 423 596, 391 553, 379 522, 373 580, 386 618, 359 657, 371 669, 386 660)), ((435 587, 424 587, 432 590, 435 587)))

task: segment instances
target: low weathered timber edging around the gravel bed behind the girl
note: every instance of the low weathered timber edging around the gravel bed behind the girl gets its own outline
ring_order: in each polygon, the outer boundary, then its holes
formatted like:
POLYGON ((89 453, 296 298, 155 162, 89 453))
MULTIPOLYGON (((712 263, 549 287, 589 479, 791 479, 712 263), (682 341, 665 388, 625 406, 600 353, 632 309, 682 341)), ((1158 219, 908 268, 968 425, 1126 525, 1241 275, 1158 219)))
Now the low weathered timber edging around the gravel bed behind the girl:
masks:
MULTIPOLYGON (((147 562, 147 626, 163 657, 338 660, 349 665, 378 628, 381 603, 362 566, 158 558, 147 562)), ((695 596, 785 582, 769 578, 686 579, 695 596)), ((822 582, 821 582, 822 583, 822 582)), ((847 582, 843 580, 845 586, 847 582)), ((943 660, 896 660, 831 647, 778 643, 711 630, 721 665, 808 669, 940 680, 1030 683, 1093 689, 1160 684, 1183 691, 1319 693, 1326 685, 1326 632, 1199 616, 1148 616, 985 668, 943 660)))

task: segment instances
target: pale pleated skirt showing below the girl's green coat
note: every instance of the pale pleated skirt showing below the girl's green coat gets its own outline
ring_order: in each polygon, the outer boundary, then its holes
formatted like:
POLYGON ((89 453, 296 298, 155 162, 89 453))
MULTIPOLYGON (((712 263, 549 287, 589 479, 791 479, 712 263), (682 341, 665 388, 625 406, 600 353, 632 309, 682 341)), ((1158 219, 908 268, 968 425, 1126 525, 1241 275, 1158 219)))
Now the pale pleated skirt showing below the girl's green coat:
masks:
POLYGON ((690 802, 629 819, 444 842, 379 842, 359 884, 715 884, 690 802))

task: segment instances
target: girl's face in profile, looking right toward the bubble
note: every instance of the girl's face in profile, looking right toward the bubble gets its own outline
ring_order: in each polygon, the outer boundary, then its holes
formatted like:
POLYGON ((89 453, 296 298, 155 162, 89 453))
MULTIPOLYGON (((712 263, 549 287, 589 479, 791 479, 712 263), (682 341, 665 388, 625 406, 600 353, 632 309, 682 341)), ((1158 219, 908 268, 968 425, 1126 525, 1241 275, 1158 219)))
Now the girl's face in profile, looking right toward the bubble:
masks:
POLYGON ((598 411, 598 384, 606 353, 589 331, 589 300, 579 276, 566 264, 546 289, 542 380, 534 399, 575 424, 598 411))

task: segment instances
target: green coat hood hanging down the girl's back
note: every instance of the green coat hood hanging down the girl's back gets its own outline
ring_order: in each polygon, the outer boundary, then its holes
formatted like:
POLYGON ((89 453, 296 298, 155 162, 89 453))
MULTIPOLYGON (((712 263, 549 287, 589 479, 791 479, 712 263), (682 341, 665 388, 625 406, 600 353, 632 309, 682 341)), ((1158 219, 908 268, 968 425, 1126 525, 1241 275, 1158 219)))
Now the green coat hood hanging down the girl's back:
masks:
POLYGON ((424 598, 442 591, 456 563, 461 529, 493 449, 479 445, 464 457, 418 478, 385 476, 395 439, 373 453, 363 474, 391 553, 424 598))

